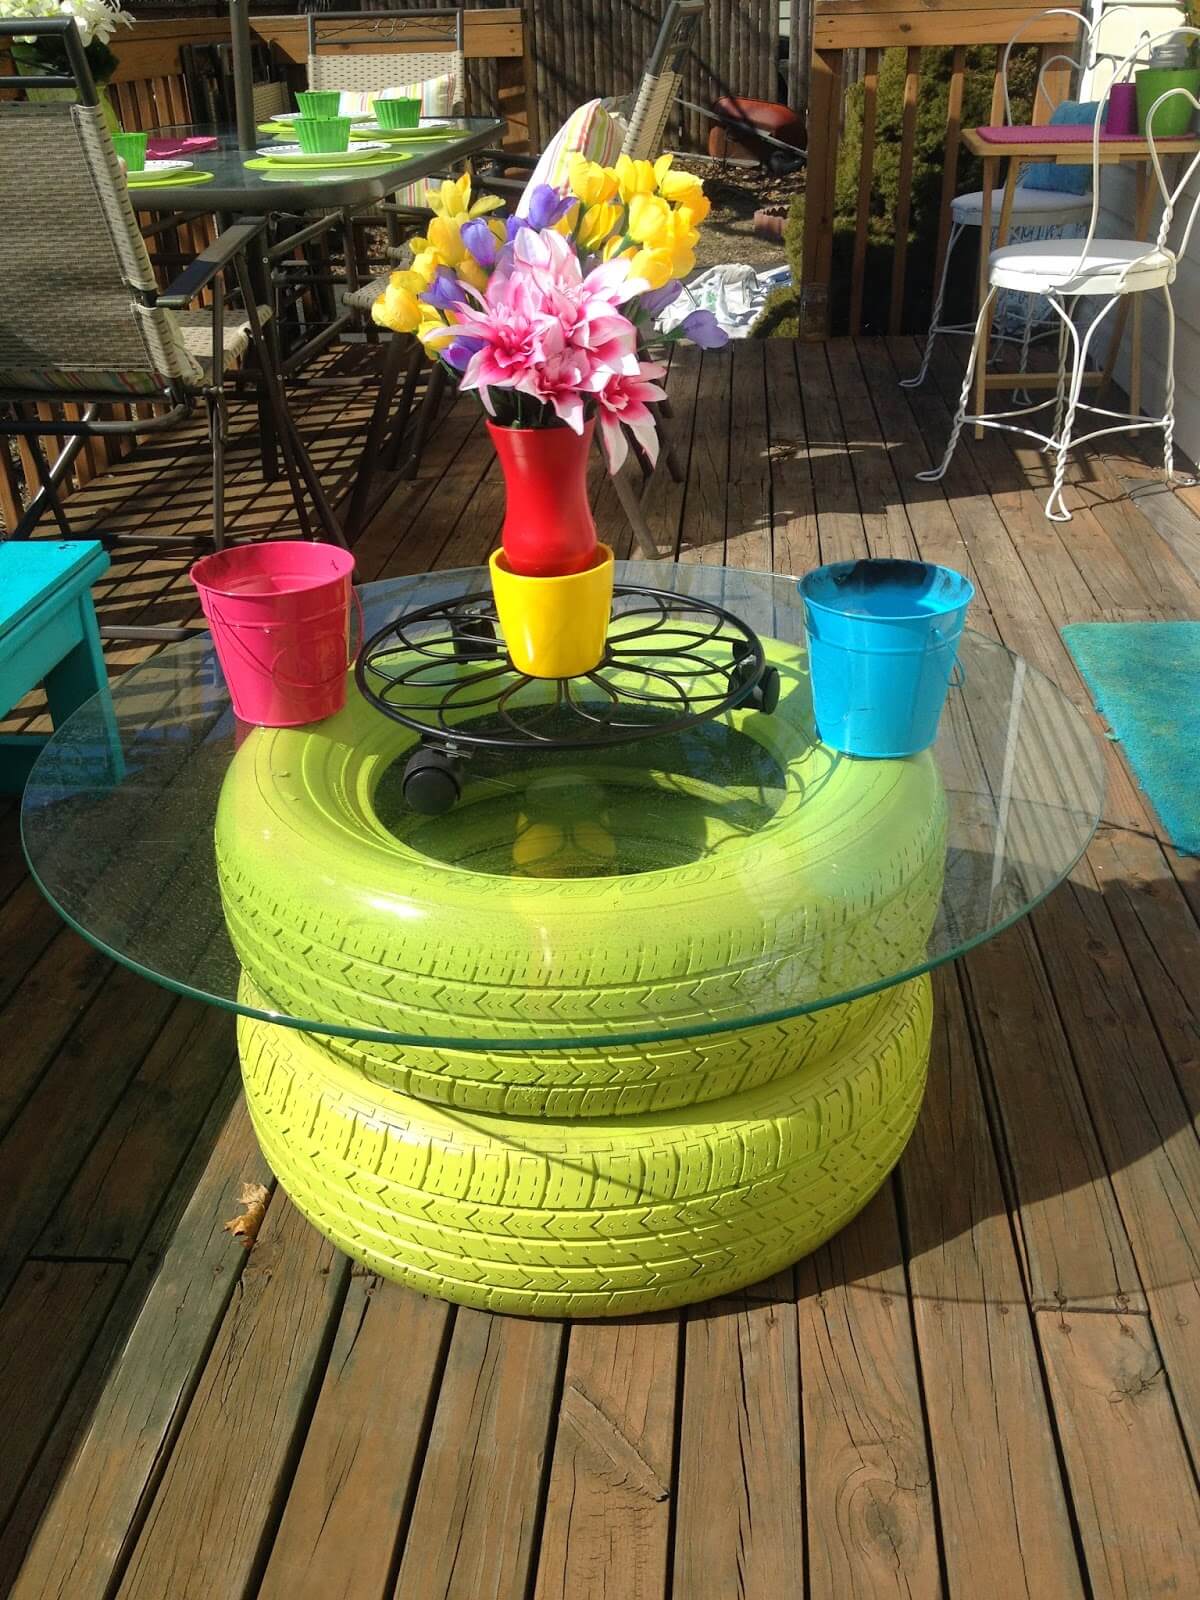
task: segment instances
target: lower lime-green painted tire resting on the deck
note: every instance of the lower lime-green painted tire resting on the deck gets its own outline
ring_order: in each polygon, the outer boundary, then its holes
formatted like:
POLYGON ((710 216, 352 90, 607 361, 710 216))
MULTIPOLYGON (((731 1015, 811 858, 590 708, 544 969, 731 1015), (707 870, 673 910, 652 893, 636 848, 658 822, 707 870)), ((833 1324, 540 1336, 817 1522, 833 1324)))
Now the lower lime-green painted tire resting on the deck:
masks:
POLYGON ((848 1222, 917 1120, 930 1014, 918 978, 803 1072, 666 1115, 565 1123, 422 1104, 246 1016, 238 1043, 267 1162, 347 1254, 466 1306, 618 1317, 754 1283, 848 1222))

